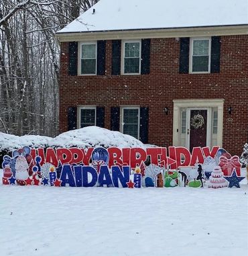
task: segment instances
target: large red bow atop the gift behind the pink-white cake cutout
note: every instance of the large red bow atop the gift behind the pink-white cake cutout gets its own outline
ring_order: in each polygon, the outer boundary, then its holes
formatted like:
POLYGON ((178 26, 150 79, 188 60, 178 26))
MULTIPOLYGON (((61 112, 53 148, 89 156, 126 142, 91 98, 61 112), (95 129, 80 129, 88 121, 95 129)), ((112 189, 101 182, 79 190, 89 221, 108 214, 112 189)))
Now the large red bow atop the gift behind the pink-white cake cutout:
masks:
POLYGON ((219 166, 221 167, 225 176, 231 176, 233 169, 236 169, 237 175, 240 176, 241 163, 239 163, 238 156, 231 157, 231 159, 221 156, 219 161, 219 166))

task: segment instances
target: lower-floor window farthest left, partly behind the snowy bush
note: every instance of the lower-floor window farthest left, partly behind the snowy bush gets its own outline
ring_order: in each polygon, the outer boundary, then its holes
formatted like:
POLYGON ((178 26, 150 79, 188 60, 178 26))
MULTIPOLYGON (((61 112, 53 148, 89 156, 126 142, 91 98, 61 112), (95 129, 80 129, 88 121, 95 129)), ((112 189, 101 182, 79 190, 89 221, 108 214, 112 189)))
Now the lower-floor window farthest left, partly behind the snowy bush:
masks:
POLYGON ((95 107, 82 107, 79 111, 79 128, 95 126, 97 122, 95 107))

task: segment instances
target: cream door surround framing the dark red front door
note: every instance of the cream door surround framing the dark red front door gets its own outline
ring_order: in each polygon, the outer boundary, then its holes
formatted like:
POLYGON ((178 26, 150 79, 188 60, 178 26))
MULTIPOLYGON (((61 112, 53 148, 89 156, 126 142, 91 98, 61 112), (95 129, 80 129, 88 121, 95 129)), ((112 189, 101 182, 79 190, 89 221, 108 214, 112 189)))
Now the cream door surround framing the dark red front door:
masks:
POLYGON ((224 99, 174 99, 173 102, 173 146, 180 145, 180 109, 182 108, 215 108, 218 111, 217 144, 218 146, 223 145, 224 99))

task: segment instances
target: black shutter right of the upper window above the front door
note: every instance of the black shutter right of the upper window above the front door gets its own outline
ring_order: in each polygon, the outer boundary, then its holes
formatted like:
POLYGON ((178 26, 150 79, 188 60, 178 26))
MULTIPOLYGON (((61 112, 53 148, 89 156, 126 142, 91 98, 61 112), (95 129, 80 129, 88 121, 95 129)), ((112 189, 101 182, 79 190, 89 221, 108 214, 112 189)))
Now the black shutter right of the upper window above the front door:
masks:
POLYGON ((221 37, 212 36, 211 42, 211 73, 220 73, 221 37))

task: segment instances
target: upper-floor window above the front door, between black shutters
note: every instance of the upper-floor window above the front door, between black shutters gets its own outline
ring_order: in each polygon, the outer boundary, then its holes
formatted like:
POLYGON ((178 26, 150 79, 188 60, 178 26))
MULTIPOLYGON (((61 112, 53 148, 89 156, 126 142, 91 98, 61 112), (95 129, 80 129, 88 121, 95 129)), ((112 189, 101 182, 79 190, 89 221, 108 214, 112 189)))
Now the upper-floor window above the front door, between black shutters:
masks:
POLYGON ((190 72, 210 73, 210 38, 190 38, 190 72))

